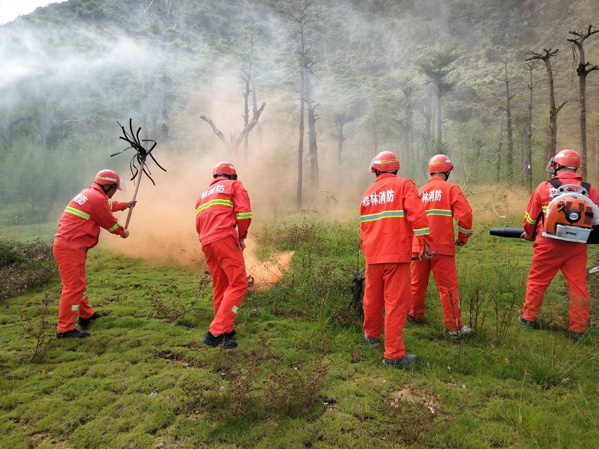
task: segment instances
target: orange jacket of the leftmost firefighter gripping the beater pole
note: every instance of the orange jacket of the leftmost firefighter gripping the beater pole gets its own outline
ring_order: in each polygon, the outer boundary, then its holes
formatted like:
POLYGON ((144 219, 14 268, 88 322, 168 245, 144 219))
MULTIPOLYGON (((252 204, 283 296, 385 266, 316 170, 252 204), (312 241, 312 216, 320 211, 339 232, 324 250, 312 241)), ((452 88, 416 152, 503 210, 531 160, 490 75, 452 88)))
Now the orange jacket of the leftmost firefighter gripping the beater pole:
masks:
POLYGON ((54 244, 74 250, 95 247, 100 227, 116 235, 123 235, 124 228, 113 211, 127 208, 126 202, 112 201, 98 184, 92 184, 75 196, 66 206, 58 222, 54 244))

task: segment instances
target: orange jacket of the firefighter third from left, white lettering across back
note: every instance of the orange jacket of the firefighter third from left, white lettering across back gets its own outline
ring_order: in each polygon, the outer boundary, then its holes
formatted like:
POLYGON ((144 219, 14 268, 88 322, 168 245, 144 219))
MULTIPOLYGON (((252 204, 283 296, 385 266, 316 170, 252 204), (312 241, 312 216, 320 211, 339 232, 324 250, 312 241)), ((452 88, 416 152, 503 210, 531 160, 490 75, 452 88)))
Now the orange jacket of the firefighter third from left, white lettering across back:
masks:
POLYGON ((379 175, 360 207, 360 244, 366 263, 411 262, 412 239, 432 243, 428 220, 414 181, 379 175))

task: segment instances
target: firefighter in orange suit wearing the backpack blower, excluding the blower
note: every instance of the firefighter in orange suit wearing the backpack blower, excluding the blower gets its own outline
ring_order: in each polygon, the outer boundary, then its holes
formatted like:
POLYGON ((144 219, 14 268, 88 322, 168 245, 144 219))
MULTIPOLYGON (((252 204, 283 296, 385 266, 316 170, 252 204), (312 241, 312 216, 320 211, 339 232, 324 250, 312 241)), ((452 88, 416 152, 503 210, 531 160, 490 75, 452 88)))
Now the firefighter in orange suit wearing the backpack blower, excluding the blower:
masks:
POLYGON ((522 237, 534 241, 522 316, 522 326, 534 329, 543 296, 551 280, 561 270, 570 291, 570 331, 578 338, 586 331, 589 320, 590 297, 586 289, 586 244, 568 242, 543 236, 543 218, 547 205, 559 186, 582 185, 595 204, 599 204, 597 190, 585 183, 576 173, 580 168, 580 156, 574 150, 562 150, 552 157, 547 166, 553 173, 549 181, 543 181, 534 191, 524 213, 522 237))

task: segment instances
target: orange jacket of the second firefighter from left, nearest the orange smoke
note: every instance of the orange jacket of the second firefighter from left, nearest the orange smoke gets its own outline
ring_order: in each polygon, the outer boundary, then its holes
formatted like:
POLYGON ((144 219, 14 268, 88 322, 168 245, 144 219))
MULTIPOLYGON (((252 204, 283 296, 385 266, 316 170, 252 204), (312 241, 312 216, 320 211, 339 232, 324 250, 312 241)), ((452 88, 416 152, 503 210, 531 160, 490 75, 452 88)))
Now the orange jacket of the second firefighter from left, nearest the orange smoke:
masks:
POLYGON ((229 235, 235 240, 246 238, 250 222, 250 197, 241 181, 216 178, 195 204, 195 227, 202 245, 229 235))

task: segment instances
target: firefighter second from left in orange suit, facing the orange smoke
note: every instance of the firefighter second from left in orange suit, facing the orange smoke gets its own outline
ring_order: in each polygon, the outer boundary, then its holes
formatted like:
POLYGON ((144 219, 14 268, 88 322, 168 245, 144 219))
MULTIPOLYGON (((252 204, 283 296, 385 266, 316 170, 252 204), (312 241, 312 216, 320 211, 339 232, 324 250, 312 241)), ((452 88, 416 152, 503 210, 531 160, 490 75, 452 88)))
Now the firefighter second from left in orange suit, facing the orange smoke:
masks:
POLYGON ((237 347, 233 322, 247 291, 243 250, 252 222, 252 208, 231 162, 217 163, 212 174, 214 180, 195 205, 196 230, 212 275, 214 292, 214 320, 202 342, 232 349, 237 347))

